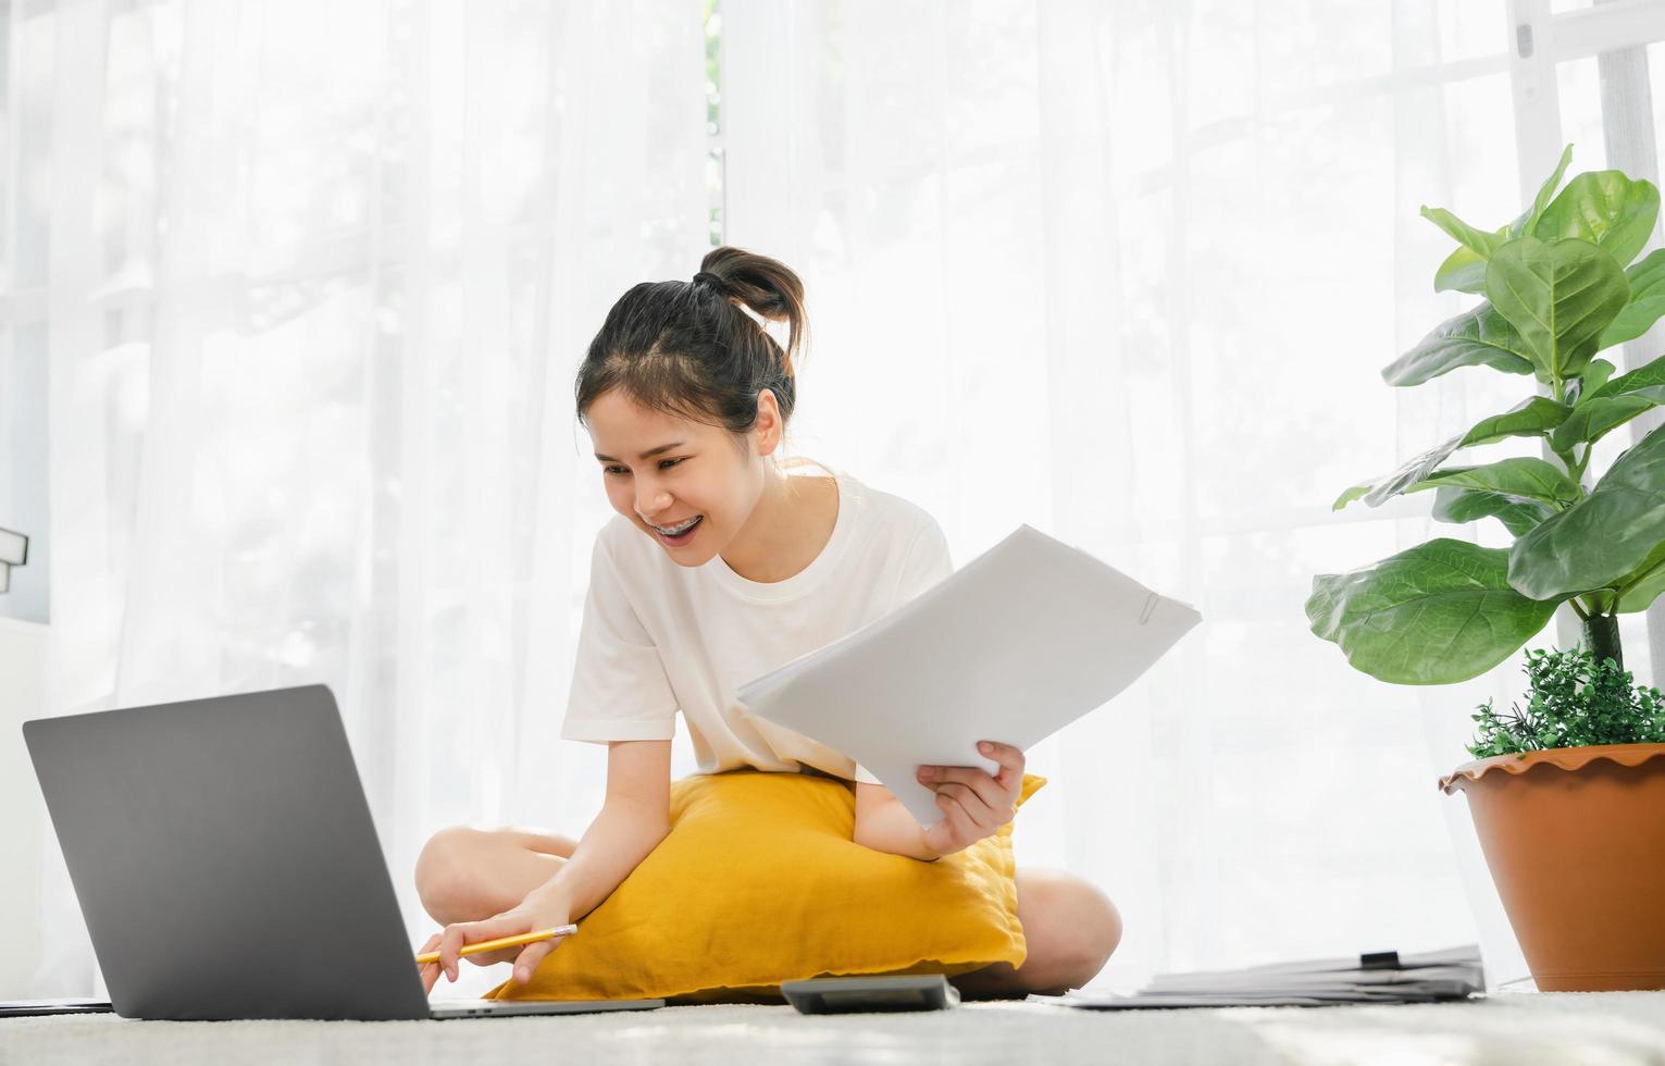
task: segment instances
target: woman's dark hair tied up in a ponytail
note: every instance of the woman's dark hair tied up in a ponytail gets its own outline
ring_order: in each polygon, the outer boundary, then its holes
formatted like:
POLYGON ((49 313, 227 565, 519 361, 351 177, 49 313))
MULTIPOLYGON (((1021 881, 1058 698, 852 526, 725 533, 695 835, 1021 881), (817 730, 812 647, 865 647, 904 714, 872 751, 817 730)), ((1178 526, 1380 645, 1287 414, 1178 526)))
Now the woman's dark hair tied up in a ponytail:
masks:
POLYGON ((764 255, 713 248, 691 281, 641 281, 618 298, 578 368, 578 420, 618 388, 649 410, 739 436, 756 423, 768 388, 784 425, 798 400, 796 360, 808 328, 796 273, 764 255), (786 350, 731 300, 786 321, 786 350))

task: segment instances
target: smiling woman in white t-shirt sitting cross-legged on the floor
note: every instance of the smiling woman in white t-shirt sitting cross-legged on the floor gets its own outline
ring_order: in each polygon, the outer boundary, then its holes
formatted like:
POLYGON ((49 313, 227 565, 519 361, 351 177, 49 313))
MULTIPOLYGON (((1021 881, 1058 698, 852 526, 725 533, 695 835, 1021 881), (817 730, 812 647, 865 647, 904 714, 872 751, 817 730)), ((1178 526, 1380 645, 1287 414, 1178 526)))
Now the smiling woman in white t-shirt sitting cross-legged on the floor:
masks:
MULTIPOLYGON (((922 863, 917 878, 907 873, 897 883, 906 898, 891 899, 894 908, 921 904, 924 886, 959 866, 932 863, 1009 831, 1024 783, 1026 756, 1017 748, 987 748, 1001 763, 999 775, 921 768, 921 783, 937 793, 942 811, 927 829, 866 768, 749 716, 734 700, 744 681, 874 621, 951 571, 942 530, 919 506, 824 463, 779 461, 804 325, 803 285, 791 270, 739 248, 718 248, 693 281, 633 286, 591 343, 578 371, 578 416, 618 518, 596 536, 561 736, 609 746, 608 801, 553 874, 543 873, 546 858, 524 854, 524 834, 435 838, 418 883, 426 881, 423 898, 433 901, 435 918, 451 923, 435 939, 441 954, 450 953, 446 973, 455 973, 465 941, 578 919, 656 854, 668 834, 673 848, 686 844, 694 829, 674 818, 666 824, 668 804, 681 795, 668 791, 678 713, 699 756, 696 778, 764 771, 769 778, 831 778, 847 788, 852 818, 836 853, 871 858, 879 851, 922 863), (786 320, 791 343, 776 343, 741 305, 786 320), (649 768, 626 750, 644 750, 639 758, 649 768), (456 921, 460 914, 491 918, 456 921)), ((809 788, 808 778, 796 780, 798 791, 809 788)), ((716 829, 723 839, 744 839, 758 828, 746 804, 723 818, 716 829)), ((841 921, 816 898, 816 886, 859 876, 849 863, 834 871, 766 874, 771 894, 788 899, 793 919, 809 926, 793 943, 841 921)), ((947 954, 892 963, 964 963, 971 953, 971 964, 954 969, 967 994, 1021 996, 1092 979, 1121 938, 1121 919, 1104 893, 1066 873, 1001 868, 992 876, 997 884, 987 891, 1014 901, 1002 921, 1034 933, 1027 953, 979 954, 967 941, 947 954)), ((711 888, 744 899, 759 884, 711 888)), ((526 948, 516 959, 518 979, 549 949, 526 948)), ((654 964, 651 958, 633 963, 654 964)), ((759 974, 764 983, 801 976, 713 963, 698 978, 678 981, 721 988, 756 984, 759 974)))

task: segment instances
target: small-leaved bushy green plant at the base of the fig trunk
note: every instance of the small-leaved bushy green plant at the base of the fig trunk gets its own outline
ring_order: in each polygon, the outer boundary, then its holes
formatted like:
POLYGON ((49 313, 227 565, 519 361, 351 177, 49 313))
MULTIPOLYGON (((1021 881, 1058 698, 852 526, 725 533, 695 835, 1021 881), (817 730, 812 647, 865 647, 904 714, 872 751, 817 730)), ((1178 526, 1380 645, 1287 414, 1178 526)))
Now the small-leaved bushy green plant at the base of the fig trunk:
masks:
POLYGON ((1570 651, 1527 651, 1527 706, 1497 715, 1482 703, 1469 755, 1477 760, 1543 748, 1665 743, 1665 696, 1632 685, 1613 660, 1597 663, 1582 646, 1570 651))

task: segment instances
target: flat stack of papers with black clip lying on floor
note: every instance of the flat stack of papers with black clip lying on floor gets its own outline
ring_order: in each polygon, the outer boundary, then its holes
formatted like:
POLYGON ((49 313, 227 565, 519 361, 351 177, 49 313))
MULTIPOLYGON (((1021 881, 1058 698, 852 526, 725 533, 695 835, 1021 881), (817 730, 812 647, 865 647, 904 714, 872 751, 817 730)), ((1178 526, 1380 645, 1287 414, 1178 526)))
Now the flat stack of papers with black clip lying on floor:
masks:
POLYGON ((1072 991, 1029 996, 1096 1011, 1170 1006, 1330 1006, 1339 1003, 1434 1003, 1485 991, 1474 944, 1404 954, 1382 951, 1347 959, 1275 963, 1247 969, 1157 974, 1132 994, 1072 991))

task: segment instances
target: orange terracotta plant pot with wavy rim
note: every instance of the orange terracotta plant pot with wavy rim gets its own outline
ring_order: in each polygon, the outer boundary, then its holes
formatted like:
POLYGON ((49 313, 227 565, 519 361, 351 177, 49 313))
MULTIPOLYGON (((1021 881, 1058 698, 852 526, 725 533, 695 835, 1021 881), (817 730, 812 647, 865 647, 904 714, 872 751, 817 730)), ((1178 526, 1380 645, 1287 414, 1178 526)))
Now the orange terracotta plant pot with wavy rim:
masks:
POLYGON ((1665 745, 1498 755, 1462 790, 1538 991, 1665 988, 1665 745))

